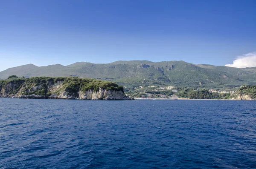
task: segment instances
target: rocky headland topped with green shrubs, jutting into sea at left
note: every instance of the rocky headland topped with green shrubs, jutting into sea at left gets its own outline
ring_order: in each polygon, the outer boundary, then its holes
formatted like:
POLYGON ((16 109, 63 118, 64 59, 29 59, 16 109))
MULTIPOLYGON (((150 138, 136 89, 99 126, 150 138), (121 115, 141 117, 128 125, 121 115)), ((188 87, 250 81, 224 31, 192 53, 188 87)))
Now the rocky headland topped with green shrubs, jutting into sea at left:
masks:
POLYGON ((32 77, 0 80, 0 97, 130 100, 122 86, 77 77, 32 77))

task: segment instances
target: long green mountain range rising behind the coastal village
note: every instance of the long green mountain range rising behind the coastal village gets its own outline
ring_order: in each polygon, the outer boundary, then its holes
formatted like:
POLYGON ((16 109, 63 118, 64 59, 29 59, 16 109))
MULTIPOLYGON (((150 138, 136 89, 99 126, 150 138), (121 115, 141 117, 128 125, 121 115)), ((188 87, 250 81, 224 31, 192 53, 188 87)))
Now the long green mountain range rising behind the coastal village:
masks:
POLYGON ((0 72, 0 79, 6 79, 12 74, 19 77, 72 76, 110 80, 125 86, 125 90, 149 85, 197 88, 235 88, 241 85, 256 85, 256 67, 241 69, 206 64, 196 65, 184 61, 132 60, 108 64, 76 62, 68 66, 56 64, 40 67, 29 64, 0 72))

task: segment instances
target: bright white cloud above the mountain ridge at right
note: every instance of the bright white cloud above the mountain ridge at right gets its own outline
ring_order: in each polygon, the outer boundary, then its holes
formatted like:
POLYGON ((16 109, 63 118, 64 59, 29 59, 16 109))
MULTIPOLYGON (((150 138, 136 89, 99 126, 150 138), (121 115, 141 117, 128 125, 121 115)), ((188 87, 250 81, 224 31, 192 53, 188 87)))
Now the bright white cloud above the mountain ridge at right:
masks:
POLYGON ((225 66, 235 68, 256 67, 256 52, 239 56, 236 58, 236 60, 233 61, 233 64, 227 64, 225 66))

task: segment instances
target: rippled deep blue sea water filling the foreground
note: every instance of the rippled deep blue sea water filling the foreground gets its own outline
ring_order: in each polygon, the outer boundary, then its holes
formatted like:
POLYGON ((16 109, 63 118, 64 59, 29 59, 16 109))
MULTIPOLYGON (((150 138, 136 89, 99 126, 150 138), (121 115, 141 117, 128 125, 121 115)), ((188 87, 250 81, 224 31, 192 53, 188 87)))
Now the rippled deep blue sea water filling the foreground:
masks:
POLYGON ((256 168, 255 103, 0 98, 0 168, 256 168))

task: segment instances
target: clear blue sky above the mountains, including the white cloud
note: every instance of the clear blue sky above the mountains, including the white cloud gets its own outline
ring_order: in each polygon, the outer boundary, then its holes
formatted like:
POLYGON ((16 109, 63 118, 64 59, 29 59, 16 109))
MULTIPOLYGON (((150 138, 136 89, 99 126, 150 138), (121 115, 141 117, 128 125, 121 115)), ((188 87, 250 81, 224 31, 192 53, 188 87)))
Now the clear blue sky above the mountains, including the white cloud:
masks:
POLYGON ((256 0, 0 0, 0 71, 183 60, 256 66, 256 0))

